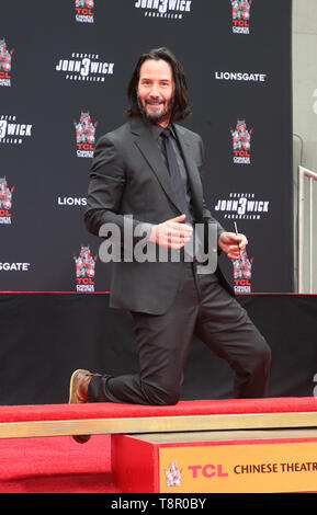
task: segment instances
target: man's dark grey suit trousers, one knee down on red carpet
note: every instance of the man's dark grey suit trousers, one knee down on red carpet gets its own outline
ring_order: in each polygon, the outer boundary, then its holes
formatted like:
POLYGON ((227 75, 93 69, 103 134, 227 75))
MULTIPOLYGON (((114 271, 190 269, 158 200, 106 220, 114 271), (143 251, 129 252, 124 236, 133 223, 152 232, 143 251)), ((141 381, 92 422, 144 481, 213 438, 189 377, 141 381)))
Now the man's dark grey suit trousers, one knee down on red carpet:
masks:
POLYGON ((231 367, 234 398, 265 396, 271 352, 264 337, 215 274, 199 274, 195 263, 180 266, 179 289, 166 313, 132 312, 139 373, 93 375, 90 402, 176 404, 193 335, 231 367))

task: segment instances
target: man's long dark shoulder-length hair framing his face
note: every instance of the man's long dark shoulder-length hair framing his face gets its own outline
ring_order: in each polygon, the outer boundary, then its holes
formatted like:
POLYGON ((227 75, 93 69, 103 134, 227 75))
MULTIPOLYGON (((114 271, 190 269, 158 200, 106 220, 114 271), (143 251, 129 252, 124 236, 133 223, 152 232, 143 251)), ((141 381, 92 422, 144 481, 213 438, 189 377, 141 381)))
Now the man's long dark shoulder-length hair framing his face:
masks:
POLYGON ((182 122, 191 114, 191 107, 188 99, 188 85, 183 71, 183 67, 176 56, 168 48, 154 48, 145 54, 141 54, 138 58, 138 61, 135 66, 132 79, 127 87, 127 98, 129 102, 129 107, 126 111, 128 117, 139 116, 140 111, 137 102, 137 87, 139 80, 139 70, 141 65, 147 59, 163 59, 169 62, 172 68, 173 79, 176 84, 174 91, 174 102, 172 107, 171 121, 172 122, 182 122))

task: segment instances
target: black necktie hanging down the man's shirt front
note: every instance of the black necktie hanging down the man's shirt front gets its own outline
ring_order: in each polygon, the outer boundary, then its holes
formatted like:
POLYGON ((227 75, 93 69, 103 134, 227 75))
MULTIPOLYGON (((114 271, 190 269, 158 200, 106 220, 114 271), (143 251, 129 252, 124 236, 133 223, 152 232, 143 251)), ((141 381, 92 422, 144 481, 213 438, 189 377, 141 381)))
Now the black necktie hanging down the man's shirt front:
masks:
POLYGON ((181 210, 183 215, 186 215, 186 218, 184 220, 184 224, 190 224, 192 225, 192 217, 190 214, 186 196, 185 196, 185 190, 184 190, 184 184, 181 178, 181 172, 178 165, 178 160, 177 156, 172 146, 172 135, 170 133, 169 128, 165 128, 161 133, 163 137, 163 142, 165 142, 165 148, 166 148, 166 154, 167 154, 167 160, 168 160, 168 168, 170 171, 170 178, 171 178, 171 183, 172 187, 174 191, 174 194, 177 196, 177 199, 179 201, 181 210))

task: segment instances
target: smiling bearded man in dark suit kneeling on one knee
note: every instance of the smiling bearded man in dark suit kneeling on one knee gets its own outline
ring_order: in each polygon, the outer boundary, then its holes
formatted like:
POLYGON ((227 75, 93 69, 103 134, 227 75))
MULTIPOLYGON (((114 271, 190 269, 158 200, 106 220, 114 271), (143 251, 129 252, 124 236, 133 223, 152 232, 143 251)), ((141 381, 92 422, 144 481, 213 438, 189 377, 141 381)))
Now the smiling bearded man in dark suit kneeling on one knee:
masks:
POLYGON ((76 370, 70 402, 177 403, 193 334, 229 363, 235 398, 263 397, 267 342, 219 268, 203 272, 199 249, 189 247, 197 225, 216 227, 216 250, 229 259, 239 258, 248 242, 244 234, 226 232, 205 206, 203 144, 176 124, 190 107, 182 66, 170 50, 140 56, 128 99, 128 122, 95 147, 84 219, 94 234, 105 237, 110 227, 117 228, 121 259, 113 263, 110 302, 134 318, 140 370, 120 377, 76 370), (127 255, 126 241, 135 250, 145 234, 156 259, 127 255), (161 249, 179 259, 162 262, 157 259, 161 249))

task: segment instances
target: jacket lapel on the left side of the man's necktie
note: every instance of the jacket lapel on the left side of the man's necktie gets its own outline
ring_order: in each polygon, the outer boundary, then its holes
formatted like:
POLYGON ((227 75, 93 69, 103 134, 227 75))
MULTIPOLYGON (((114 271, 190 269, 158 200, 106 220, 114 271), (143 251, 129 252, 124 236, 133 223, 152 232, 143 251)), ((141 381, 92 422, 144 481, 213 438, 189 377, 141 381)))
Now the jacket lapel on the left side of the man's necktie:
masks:
POLYGON ((136 136, 135 145, 141 152, 144 159, 150 165, 152 172, 157 176, 160 185, 171 199, 174 206, 181 211, 176 194, 172 190, 169 171, 160 154, 159 148, 152 138, 148 127, 141 118, 132 118, 132 133, 136 136))

